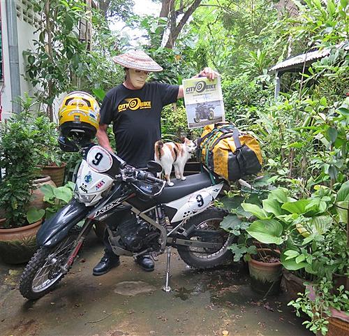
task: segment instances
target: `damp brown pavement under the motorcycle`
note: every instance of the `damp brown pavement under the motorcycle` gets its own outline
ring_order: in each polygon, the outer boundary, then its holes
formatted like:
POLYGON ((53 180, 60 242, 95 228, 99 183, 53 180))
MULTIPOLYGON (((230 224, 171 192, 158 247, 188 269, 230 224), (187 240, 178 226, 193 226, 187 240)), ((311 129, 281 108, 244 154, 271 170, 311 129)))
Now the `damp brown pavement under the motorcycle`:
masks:
POLYGON ((118 268, 94 277, 102 250, 91 234, 58 288, 35 302, 18 291, 24 265, 0 262, 0 335, 313 335, 284 294, 263 300, 253 293, 242 267, 193 270, 172 250, 172 291, 165 293, 165 255, 154 272, 121 257, 118 268))

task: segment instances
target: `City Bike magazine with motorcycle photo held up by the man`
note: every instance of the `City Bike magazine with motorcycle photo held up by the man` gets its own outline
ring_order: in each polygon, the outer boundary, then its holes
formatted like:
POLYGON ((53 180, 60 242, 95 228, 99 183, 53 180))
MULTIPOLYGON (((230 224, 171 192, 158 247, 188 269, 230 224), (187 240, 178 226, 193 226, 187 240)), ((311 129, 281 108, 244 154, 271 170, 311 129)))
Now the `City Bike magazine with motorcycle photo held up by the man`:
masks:
POLYGON ((191 78, 183 81, 183 87, 189 129, 225 121, 220 77, 191 78))

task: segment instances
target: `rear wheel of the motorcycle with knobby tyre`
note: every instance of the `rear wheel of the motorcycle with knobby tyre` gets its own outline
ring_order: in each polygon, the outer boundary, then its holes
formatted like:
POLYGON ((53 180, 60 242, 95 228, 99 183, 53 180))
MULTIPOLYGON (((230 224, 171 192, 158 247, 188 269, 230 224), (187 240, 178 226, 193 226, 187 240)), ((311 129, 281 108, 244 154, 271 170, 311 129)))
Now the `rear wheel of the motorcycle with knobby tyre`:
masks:
POLYGON ((201 247, 178 247, 179 256, 183 261, 194 268, 214 268, 222 265, 228 258, 231 258, 231 252, 228 247, 237 240, 234 235, 230 235, 220 228, 219 224, 225 216, 224 210, 216 207, 209 207, 204 212, 191 217, 184 228, 191 232, 188 238, 191 240, 200 240, 201 242, 220 243, 219 249, 207 249, 201 247), (200 231, 207 231, 207 234, 200 235, 200 231), (209 231, 215 234, 209 238, 209 231), (199 233, 198 233, 199 232, 199 233), (217 233, 221 233, 218 234, 217 233))

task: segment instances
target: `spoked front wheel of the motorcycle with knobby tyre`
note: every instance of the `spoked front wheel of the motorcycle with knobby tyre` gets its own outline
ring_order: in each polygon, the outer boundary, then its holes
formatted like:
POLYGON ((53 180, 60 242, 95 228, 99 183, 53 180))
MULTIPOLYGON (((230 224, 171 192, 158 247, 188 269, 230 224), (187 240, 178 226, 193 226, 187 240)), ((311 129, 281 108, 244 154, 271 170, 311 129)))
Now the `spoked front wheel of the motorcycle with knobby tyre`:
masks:
POLYGON ((20 293, 36 300, 52 291, 68 270, 64 265, 75 247, 75 234, 71 233, 54 247, 40 247, 30 259, 20 278, 20 293))

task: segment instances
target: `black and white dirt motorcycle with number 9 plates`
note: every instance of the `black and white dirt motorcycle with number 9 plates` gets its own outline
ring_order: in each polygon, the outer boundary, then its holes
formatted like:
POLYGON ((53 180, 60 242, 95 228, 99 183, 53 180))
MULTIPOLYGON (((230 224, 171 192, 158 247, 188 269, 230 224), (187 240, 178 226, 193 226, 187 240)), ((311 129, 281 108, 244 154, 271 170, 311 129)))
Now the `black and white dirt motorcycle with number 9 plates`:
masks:
POLYGON ((207 173, 198 173, 165 187, 154 177, 162 170, 154 161, 134 168, 94 144, 82 153, 73 199, 36 235, 38 250, 20 278, 24 298, 36 300, 59 284, 95 221, 112 223, 107 231, 119 256, 156 258, 167 252, 165 291, 170 291, 171 247, 193 268, 213 268, 230 257, 228 247, 236 238, 219 227, 227 212, 212 206, 224 182, 213 184, 207 173), (118 221, 124 210, 135 215, 118 221))

